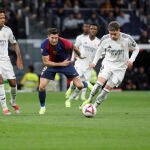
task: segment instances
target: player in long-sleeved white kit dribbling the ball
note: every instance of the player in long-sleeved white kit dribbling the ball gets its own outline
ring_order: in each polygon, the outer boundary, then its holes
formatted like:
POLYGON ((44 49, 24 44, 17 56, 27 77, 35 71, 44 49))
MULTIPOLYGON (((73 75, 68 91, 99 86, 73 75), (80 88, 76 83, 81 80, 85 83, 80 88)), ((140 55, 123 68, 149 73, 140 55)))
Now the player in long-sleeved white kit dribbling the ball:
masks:
POLYGON ((119 86, 122 82, 126 69, 132 68, 139 47, 133 38, 125 33, 120 32, 120 25, 116 21, 112 21, 108 25, 109 34, 104 35, 96 52, 93 63, 90 65, 93 68, 102 53, 105 51, 105 58, 102 61, 97 83, 93 86, 88 100, 84 101, 81 109, 87 103, 92 101, 93 96, 101 90, 94 103, 98 107, 106 98, 109 92, 119 86), (129 58, 129 50, 132 50, 132 55, 129 58), (103 85, 104 88, 102 89, 103 85))

